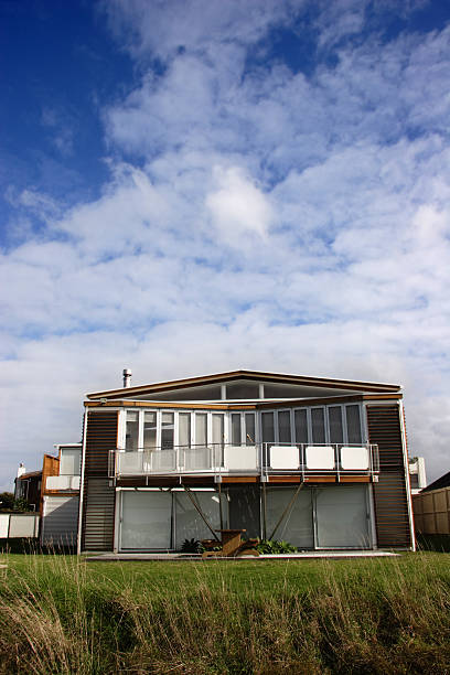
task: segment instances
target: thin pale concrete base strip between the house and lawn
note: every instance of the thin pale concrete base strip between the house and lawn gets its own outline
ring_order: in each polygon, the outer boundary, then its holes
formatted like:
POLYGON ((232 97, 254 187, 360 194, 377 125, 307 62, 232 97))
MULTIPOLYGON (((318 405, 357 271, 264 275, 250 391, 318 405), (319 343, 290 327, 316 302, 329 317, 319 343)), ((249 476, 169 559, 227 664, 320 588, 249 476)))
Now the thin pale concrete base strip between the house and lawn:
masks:
POLYGON ((392 553, 388 550, 306 550, 297 554, 277 554, 277 555, 260 555, 255 556, 240 556, 238 558, 206 558, 202 559, 200 554, 178 554, 178 553, 105 553, 97 555, 88 555, 85 559, 87 562, 124 562, 126 560, 139 560, 139 561, 171 561, 180 562, 183 560, 191 560, 197 562, 207 562, 211 560, 225 560, 237 562, 239 560, 315 560, 320 558, 328 559, 341 559, 341 558, 388 558, 399 556, 400 554, 392 553))

